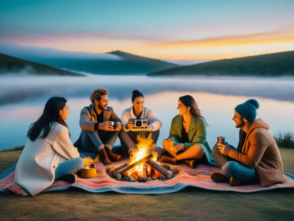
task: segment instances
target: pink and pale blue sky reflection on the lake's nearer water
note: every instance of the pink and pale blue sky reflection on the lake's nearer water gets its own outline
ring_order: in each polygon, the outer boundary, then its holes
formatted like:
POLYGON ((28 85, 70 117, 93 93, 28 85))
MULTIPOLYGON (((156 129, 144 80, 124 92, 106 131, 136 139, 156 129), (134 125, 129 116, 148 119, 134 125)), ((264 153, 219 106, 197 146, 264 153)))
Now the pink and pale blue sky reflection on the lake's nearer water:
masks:
MULTIPOLYGON (((178 114, 177 102, 182 95, 190 94, 198 103, 201 114, 210 125, 207 128, 207 140, 212 147, 216 143, 217 136, 225 136, 226 141, 233 145, 238 144, 238 128, 231 120, 234 108, 249 98, 255 98, 260 103, 257 117, 262 118, 270 126, 270 132, 278 130, 294 132, 293 110, 294 103, 276 101, 256 97, 242 97, 231 95, 216 95, 209 93, 171 92, 166 91, 154 95, 145 95, 145 105, 155 111, 156 116, 162 121, 158 146, 162 146, 162 140, 169 134, 171 120, 178 114)), ((0 150, 10 149, 25 144, 26 132, 29 125, 42 113, 46 101, 35 103, 23 103, 18 105, 6 105, 0 108, 0 150)), ((68 98, 71 109, 67 123, 71 131, 71 140, 74 142, 80 133, 79 114, 81 108, 90 104, 89 98, 68 98)), ((115 113, 121 117, 124 109, 131 106, 131 94, 125 100, 109 100, 115 113)), ((119 144, 117 139, 116 144, 119 144)))

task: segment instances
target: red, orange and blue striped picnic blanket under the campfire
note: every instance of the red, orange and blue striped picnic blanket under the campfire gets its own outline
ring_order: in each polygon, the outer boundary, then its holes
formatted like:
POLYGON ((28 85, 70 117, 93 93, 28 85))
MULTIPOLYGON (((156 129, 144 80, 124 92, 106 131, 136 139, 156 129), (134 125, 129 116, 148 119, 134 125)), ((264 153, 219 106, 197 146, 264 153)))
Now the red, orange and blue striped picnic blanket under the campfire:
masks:
MULTIPOLYGON (((270 187, 261 187, 260 185, 246 185, 239 187, 231 187, 227 183, 215 183, 210 179, 210 174, 220 169, 212 166, 198 165, 195 169, 186 165, 178 165, 180 170, 178 176, 170 180, 160 181, 153 180, 150 182, 124 182, 117 181, 106 174, 104 165, 98 161, 95 162, 97 172, 103 173, 102 177, 93 179, 78 178, 77 182, 69 185, 64 181, 54 182, 44 192, 60 191, 69 187, 76 187, 88 192, 108 192, 114 191, 126 194, 165 194, 180 191, 188 186, 199 187, 217 191, 233 191, 233 192, 257 192, 276 188, 293 188, 294 176, 285 173, 283 184, 276 184, 270 187)), ((11 168, 12 170, 13 168, 11 168)), ((0 178, 2 178, 0 176, 0 178)), ((14 182, 14 171, 7 177, 0 179, 0 192, 14 192, 19 195, 29 195, 29 193, 14 182)))

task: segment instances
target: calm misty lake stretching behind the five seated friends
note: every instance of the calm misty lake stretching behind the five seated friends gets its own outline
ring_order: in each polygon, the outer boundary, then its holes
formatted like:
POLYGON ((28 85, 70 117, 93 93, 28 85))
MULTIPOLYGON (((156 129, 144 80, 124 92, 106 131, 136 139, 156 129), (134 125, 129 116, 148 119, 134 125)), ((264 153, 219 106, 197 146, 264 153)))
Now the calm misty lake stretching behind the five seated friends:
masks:
MULTIPOLYGON (((43 111, 46 100, 53 95, 68 100, 71 113, 67 123, 74 142, 80 133, 81 108, 90 104, 94 88, 109 90, 109 106, 120 117, 131 107, 131 91, 145 95, 145 106, 155 111, 162 121, 158 146, 168 137, 171 120, 178 114, 178 98, 192 95, 201 114, 210 125, 208 143, 216 143, 217 136, 238 144, 238 128, 231 120, 234 108, 245 100, 255 98, 260 103, 258 118, 270 126, 270 132, 294 132, 294 80, 256 78, 148 78, 145 76, 89 76, 89 77, 2 77, 0 79, 0 150, 14 148, 26 142, 29 125, 43 111)), ((116 140, 119 144, 119 139, 116 140)))

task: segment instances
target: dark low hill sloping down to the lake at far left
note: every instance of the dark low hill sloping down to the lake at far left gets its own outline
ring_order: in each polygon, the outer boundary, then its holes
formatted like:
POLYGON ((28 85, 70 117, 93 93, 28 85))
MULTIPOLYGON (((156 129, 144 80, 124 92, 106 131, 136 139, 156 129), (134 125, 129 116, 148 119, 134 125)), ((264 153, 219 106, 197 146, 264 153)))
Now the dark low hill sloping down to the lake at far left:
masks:
POLYGON ((26 72, 36 75, 85 76, 80 73, 61 70, 48 65, 31 62, 0 53, 0 74, 6 74, 9 72, 13 72, 14 74, 26 72))

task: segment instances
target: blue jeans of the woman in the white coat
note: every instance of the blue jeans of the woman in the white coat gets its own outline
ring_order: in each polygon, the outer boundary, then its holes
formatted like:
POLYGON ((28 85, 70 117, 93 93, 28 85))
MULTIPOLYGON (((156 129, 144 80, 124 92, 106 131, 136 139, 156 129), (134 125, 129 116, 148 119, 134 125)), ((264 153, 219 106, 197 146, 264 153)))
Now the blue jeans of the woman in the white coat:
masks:
POLYGON ((66 174, 76 173, 83 166, 84 162, 81 157, 63 161, 57 166, 55 170, 55 179, 58 179, 66 174))

